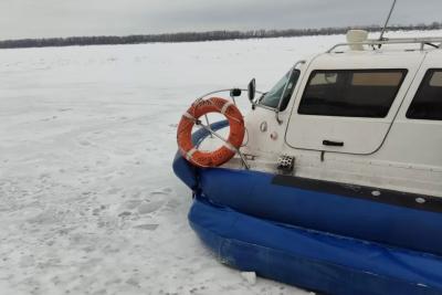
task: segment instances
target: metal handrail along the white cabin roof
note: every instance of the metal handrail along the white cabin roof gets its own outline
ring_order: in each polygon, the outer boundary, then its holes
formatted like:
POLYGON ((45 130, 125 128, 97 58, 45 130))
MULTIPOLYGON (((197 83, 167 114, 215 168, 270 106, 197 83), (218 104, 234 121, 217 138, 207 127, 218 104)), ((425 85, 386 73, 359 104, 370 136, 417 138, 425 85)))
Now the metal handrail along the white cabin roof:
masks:
POLYGON ((326 53, 332 53, 334 50, 340 46, 351 46, 351 45, 389 45, 389 44, 421 44, 420 50, 427 45, 427 43, 440 43, 436 45, 441 49, 442 38, 440 36, 428 36, 428 38, 394 38, 394 39, 383 39, 383 40, 375 40, 369 39, 362 42, 345 42, 338 43, 332 46, 326 53))

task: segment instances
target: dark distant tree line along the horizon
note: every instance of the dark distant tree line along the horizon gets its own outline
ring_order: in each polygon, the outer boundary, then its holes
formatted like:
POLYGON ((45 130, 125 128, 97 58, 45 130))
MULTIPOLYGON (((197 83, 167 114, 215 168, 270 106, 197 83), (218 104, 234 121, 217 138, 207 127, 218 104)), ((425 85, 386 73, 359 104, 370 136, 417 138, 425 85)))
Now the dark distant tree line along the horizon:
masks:
MULTIPOLYGON (((379 25, 346 27, 346 28, 322 28, 322 29, 288 29, 288 30, 253 30, 253 31, 211 31, 211 32, 185 32, 166 34, 140 34, 140 35, 99 35, 99 36, 70 36, 50 39, 21 39, 0 41, 0 49, 18 48, 46 48, 46 46, 73 46, 73 45, 109 45, 109 44, 139 44, 139 43, 173 43, 173 42, 200 42, 235 39, 263 39, 281 36, 303 35, 332 35, 344 34, 350 29, 362 29, 369 32, 381 30, 379 25)), ((389 31, 409 30, 438 30, 442 29, 441 22, 431 24, 391 25, 389 31)))

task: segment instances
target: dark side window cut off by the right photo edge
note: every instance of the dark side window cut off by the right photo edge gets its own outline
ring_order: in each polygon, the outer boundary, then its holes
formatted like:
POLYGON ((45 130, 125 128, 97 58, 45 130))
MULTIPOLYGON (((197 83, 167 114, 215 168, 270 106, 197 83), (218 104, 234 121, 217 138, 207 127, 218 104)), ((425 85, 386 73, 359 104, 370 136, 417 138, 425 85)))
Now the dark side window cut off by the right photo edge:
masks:
POLYGON ((407 117, 442 120, 442 70, 429 70, 419 86, 407 117))

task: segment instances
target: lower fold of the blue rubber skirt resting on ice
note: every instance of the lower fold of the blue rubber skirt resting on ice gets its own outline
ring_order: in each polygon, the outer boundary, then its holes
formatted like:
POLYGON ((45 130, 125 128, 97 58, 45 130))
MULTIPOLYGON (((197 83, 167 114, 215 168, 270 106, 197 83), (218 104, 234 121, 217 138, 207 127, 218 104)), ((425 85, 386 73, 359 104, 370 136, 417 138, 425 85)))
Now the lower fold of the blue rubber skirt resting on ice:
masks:
POLYGON ((442 259, 252 218, 203 198, 189 221, 223 262, 326 294, 442 294, 442 259))

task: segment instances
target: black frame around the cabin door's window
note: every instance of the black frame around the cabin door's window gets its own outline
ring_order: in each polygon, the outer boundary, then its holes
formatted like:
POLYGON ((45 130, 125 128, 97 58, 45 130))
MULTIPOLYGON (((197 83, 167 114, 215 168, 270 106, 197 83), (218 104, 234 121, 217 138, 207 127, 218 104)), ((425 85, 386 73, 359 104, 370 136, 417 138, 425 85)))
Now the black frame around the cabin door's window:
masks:
POLYGON ((386 118, 390 114, 391 107, 394 105, 394 102, 398 98, 398 94, 399 94, 399 92, 401 91, 401 88, 403 86, 403 82, 407 78, 408 73, 409 73, 409 69, 406 69, 406 67, 326 69, 326 70, 324 70, 324 69, 315 69, 309 73, 309 76, 308 76, 308 80, 307 80, 307 82, 306 82, 306 84, 304 86, 303 95, 301 96, 299 104, 297 106, 296 113, 297 113, 297 115, 301 115, 301 116, 324 116, 324 117, 337 117, 337 118, 340 117, 340 118, 366 118, 366 119, 386 118), (388 109, 387 114, 385 116, 382 116, 382 117, 373 117, 373 116, 341 116, 341 115, 332 115, 332 114, 322 115, 322 114, 304 114, 304 113, 299 113, 301 106, 302 106, 303 101, 305 99, 305 96, 306 96, 307 87, 311 85, 311 82, 314 78, 315 74, 317 74, 317 73, 324 73, 324 74, 326 74, 326 73, 337 73, 337 74, 339 74, 339 73, 343 73, 343 72, 344 73, 345 72, 351 72, 351 73, 389 73, 389 72, 391 72, 391 73, 401 73, 402 77, 401 77, 401 80, 400 80, 400 82, 399 82, 399 84, 398 84, 398 86, 396 88, 396 92, 394 92, 394 95, 393 95, 393 99, 391 101, 391 104, 389 106, 389 109, 388 109))

